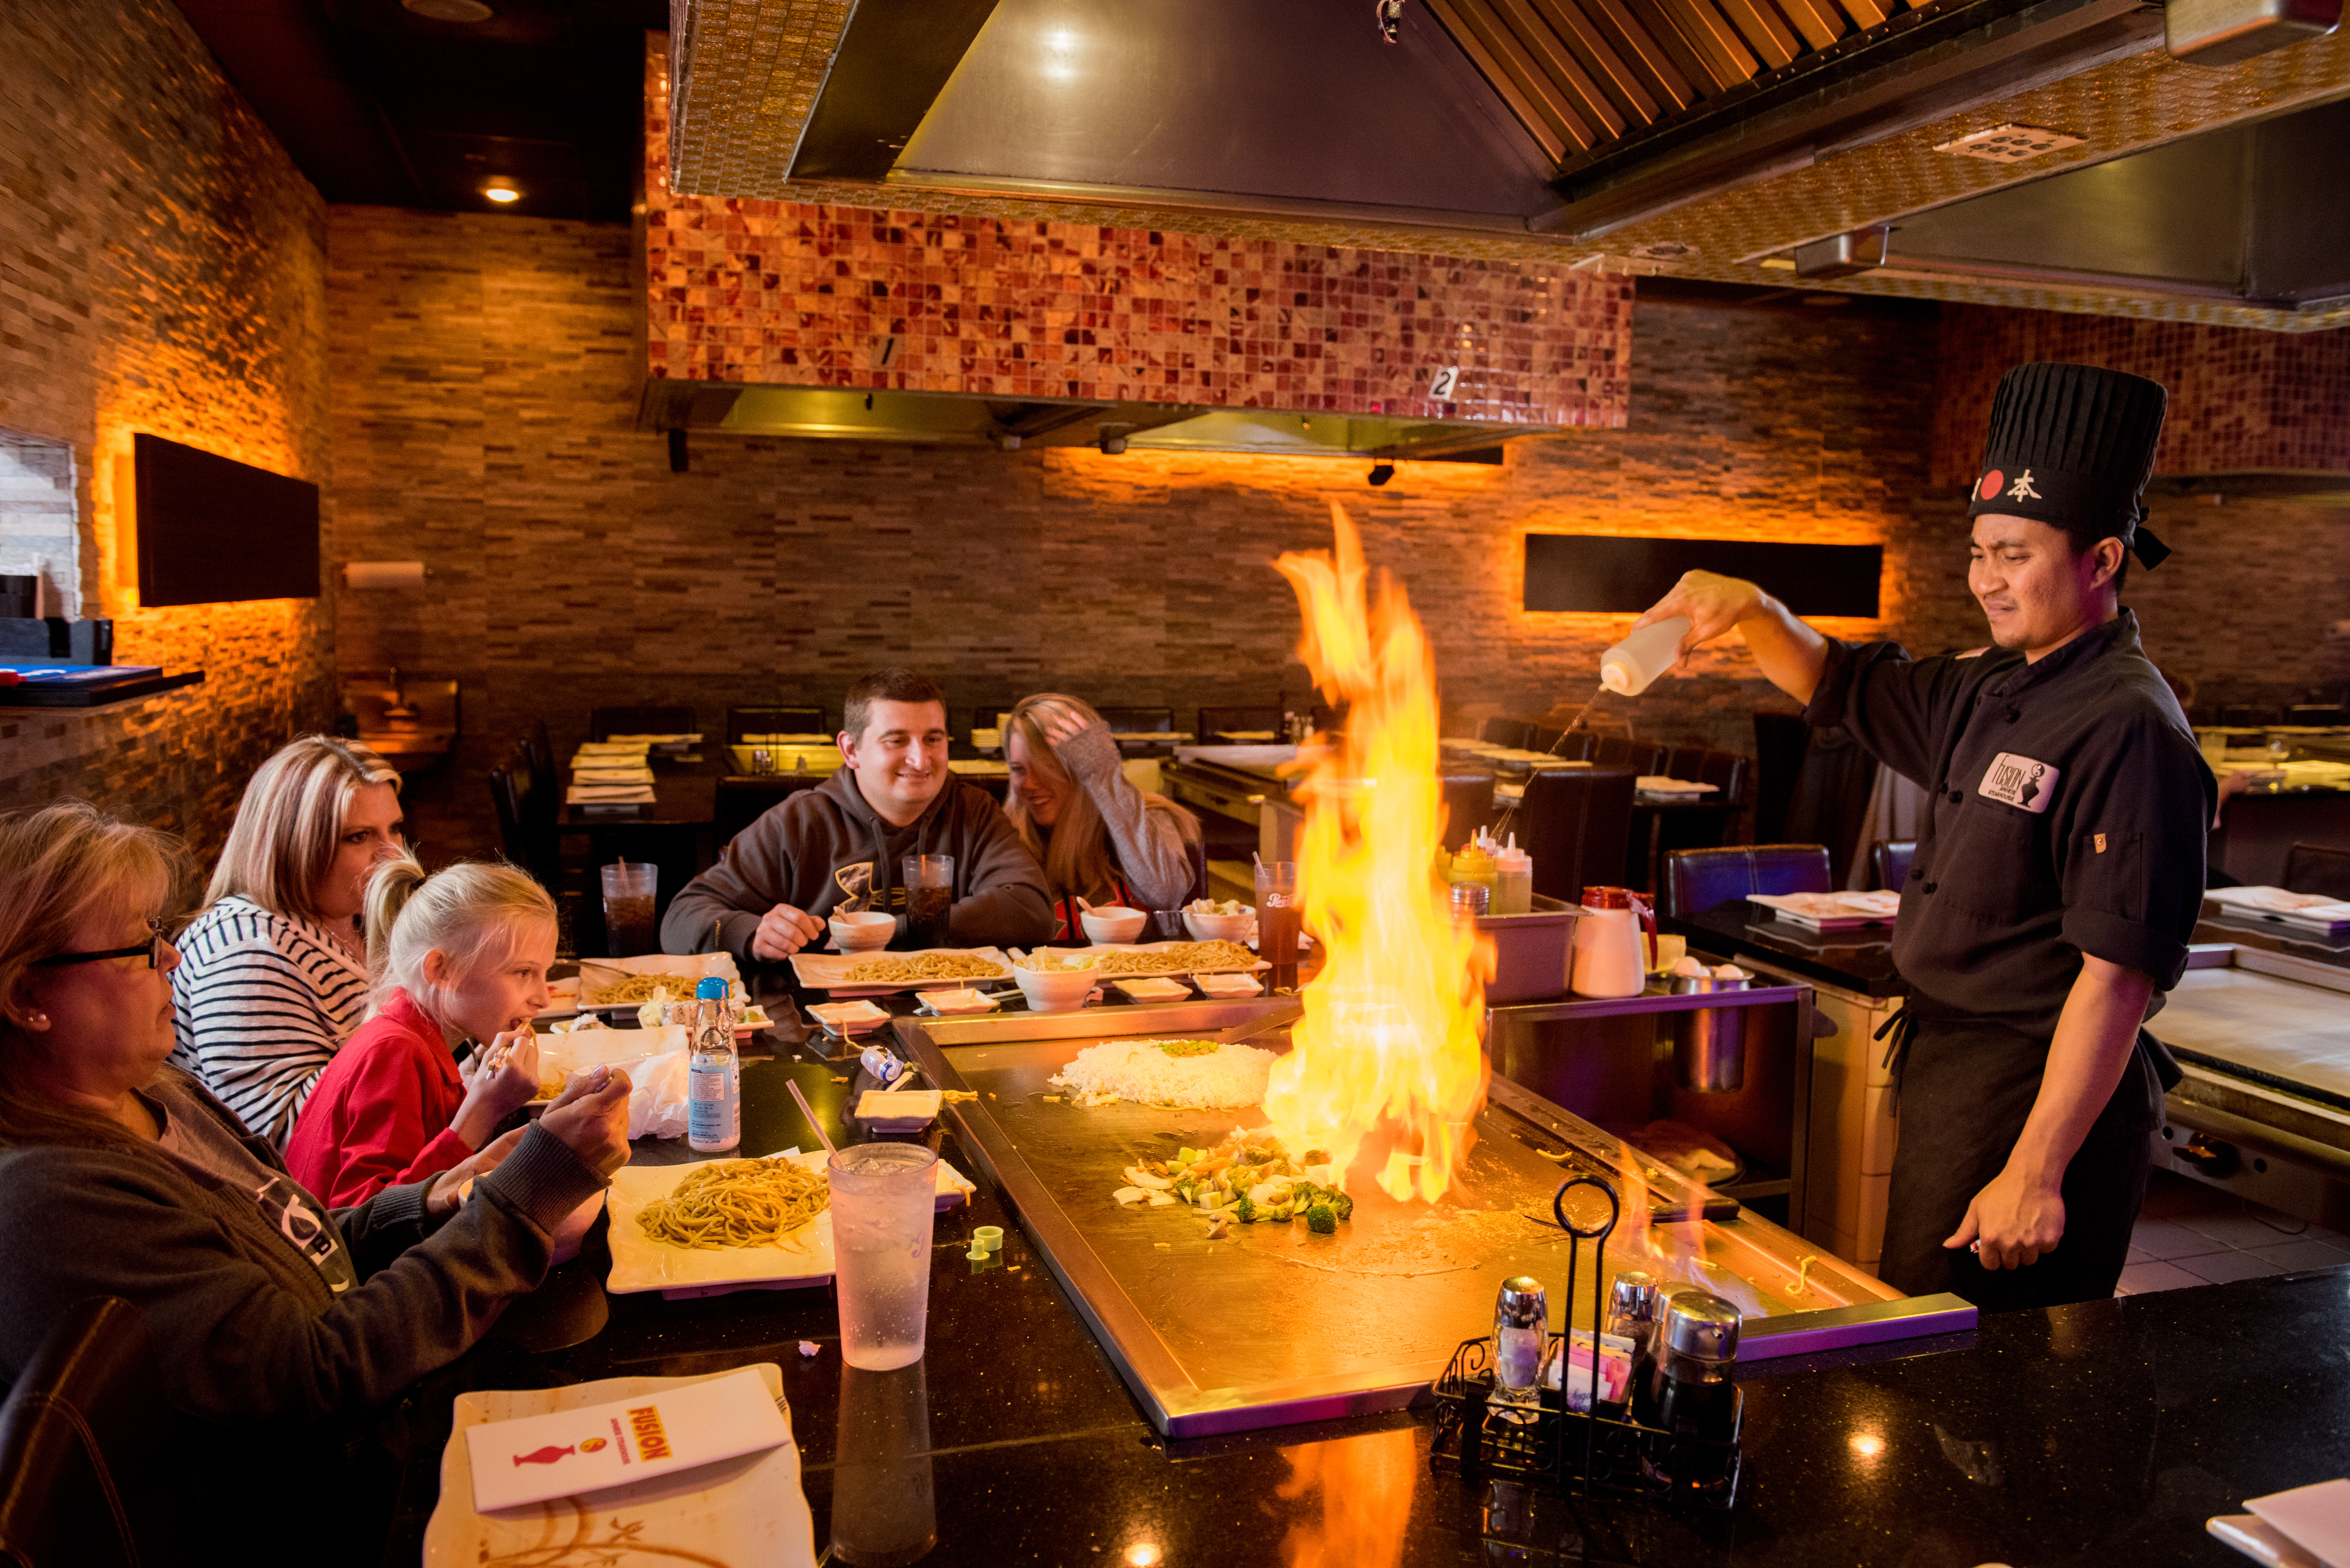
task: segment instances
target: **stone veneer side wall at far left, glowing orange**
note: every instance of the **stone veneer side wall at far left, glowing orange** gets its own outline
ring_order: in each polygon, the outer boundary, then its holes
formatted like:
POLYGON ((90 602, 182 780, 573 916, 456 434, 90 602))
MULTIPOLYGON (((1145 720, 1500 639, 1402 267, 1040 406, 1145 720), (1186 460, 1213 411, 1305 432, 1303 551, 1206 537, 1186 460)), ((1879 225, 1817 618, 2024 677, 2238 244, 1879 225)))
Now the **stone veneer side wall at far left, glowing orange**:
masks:
POLYGON ((209 863, 254 766, 334 717, 334 602, 139 609, 118 477, 148 430, 324 484, 324 207, 167 0, 0 7, 0 425, 73 449, 82 614, 207 672, 0 710, 0 809, 85 795, 209 863))

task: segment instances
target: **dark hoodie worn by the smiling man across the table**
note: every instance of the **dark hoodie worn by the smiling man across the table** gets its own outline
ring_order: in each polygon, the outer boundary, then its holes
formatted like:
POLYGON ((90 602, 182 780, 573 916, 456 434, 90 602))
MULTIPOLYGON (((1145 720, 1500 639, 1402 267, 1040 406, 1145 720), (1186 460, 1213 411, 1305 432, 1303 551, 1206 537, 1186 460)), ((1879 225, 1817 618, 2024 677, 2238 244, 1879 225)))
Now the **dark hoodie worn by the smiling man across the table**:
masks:
POLYGON ((987 790, 947 778, 919 818, 893 827, 865 804, 855 773, 844 766, 738 832, 717 865, 679 889, 660 919, 660 945, 670 952, 724 947, 750 964, 750 938, 768 910, 787 903, 822 919, 844 898, 834 872, 865 865, 872 907, 898 914, 891 943, 902 947, 898 860, 914 853, 954 856, 947 931, 956 945, 1029 945, 1053 936, 1043 870, 987 790))

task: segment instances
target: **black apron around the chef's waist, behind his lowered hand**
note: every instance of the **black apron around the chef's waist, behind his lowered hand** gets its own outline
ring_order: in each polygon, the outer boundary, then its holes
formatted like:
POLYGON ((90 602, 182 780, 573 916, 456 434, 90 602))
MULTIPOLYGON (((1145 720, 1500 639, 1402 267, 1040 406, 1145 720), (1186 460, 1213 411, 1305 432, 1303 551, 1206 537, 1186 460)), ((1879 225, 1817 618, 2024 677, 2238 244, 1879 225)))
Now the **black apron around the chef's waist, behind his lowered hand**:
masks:
POLYGON ((1904 1295, 1953 1291, 1983 1312, 2059 1307, 2113 1295, 2129 1232, 2146 1201, 2153 1131, 2162 1124, 2160 1063, 2169 1051, 2138 1030, 2106 1110, 2063 1173, 2063 1239, 2021 1269, 1986 1269, 1943 1248, 1967 1204, 1998 1178, 2040 1095, 2049 1041, 1981 1018, 1901 1013, 1894 1034, 1894 1145, 1885 1253, 1878 1276, 1904 1295))

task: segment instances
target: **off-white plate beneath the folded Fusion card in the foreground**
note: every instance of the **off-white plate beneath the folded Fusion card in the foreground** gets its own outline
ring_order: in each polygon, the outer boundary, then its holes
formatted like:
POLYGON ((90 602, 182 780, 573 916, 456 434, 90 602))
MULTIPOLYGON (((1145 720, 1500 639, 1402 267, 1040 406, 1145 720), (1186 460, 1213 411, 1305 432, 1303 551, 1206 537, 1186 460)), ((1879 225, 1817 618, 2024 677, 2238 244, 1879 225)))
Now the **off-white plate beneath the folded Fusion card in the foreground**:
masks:
MULTIPOLYGON (((783 1371, 757 1363, 785 1420, 783 1371)), ((724 1375, 724 1373, 712 1373, 724 1375)), ((498 1514, 472 1509, 465 1432, 491 1420, 552 1415, 658 1394, 703 1378, 604 1378, 562 1389, 456 1396, 456 1429, 442 1450, 442 1495, 425 1526, 425 1568, 477 1563, 700 1561, 815 1566, 815 1521, 799 1479, 799 1443, 616 1486, 588 1497, 531 1502, 498 1514)))

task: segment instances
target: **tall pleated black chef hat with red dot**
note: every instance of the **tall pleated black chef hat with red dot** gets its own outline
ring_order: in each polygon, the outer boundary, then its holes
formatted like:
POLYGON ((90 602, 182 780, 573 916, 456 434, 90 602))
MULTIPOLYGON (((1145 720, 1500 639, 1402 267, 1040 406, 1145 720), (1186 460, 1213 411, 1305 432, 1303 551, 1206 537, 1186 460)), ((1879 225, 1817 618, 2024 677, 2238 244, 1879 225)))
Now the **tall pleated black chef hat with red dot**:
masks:
POLYGON ((1967 517, 2005 512, 2075 536, 2120 538, 2146 567, 2169 545, 2148 534, 2146 480, 2169 395, 2160 381, 2094 364, 2019 364, 2000 376, 1967 517))

